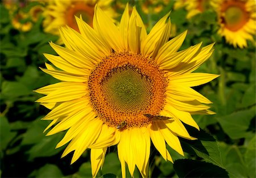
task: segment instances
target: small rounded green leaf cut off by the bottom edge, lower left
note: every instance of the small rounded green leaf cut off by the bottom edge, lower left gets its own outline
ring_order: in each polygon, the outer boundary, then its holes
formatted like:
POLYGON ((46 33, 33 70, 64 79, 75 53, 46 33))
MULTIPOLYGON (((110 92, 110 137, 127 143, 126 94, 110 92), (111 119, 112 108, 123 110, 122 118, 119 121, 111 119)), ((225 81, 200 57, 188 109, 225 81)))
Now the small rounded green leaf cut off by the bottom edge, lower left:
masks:
POLYGON ((36 177, 63 177, 63 174, 56 165, 46 164, 36 172, 36 177))

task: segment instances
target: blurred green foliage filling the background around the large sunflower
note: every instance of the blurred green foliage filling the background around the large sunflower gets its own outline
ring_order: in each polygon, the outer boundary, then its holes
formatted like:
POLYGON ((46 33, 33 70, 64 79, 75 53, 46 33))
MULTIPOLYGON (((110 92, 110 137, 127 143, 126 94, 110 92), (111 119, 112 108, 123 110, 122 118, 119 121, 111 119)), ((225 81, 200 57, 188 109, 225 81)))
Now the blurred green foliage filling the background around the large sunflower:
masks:
MULTIPOLYGON (((137 6, 148 31, 174 5, 170 1, 161 12, 144 14, 143 1, 130 3, 137 6)), ((43 32, 42 17, 30 31, 20 32, 11 25, 9 11, 2 4, 0 13, 1 176, 91 177, 89 150, 72 165, 71 155, 60 158, 65 146, 60 149, 55 146, 64 133, 46 137, 43 130, 49 122, 40 118, 49 110, 34 103, 42 95, 33 90, 57 82, 39 67, 44 67, 47 61, 43 53, 55 54, 48 42, 58 37, 43 32)), ((185 157, 168 147, 174 164, 166 162, 151 147, 149 175, 255 177, 255 46, 249 42, 248 48, 239 49, 225 44, 224 38, 217 35, 217 16, 213 11, 205 11, 190 20, 185 18, 186 14, 184 9, 171 12, 176 34, 188 29, 182 49, 201 41, 204 46, 216 43, 212 57, 197 71, 221 76, 195 89, 213 101, 211 107, 217 114, 193 116, 201 130, 187 128, 199 139, 180 139, 185 157)), ((115 146, 109 148, 98 176, 121 177, 115 146)), ((130 177, 128 171, 126 176, 130 177)), ((136 169, 134 177, 139 176, 136 169)))

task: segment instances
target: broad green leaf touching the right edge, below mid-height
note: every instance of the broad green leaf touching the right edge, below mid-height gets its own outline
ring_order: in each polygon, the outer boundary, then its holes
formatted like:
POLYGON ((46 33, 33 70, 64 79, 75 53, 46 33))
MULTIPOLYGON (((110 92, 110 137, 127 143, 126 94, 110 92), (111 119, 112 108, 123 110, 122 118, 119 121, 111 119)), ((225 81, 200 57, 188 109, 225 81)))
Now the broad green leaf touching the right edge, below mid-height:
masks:
POLYGON ((217 117, 222 129, 232 139, 243 138, 249 128, 251 119, 255 116, 255 107, 234 112, 227 116, 217 117))

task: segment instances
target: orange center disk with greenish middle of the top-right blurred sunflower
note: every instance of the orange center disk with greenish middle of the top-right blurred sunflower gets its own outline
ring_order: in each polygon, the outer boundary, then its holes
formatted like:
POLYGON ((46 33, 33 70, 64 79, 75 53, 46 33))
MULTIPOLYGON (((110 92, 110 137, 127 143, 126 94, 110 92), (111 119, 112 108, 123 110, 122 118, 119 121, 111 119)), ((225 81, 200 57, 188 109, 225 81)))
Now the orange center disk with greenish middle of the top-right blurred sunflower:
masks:
POLYGON ((225 9, 224 20, 226 28, 231 31, 237 31, 242 28, 248 21, 248 14, 245 10, 245 5, 237 4, 236 6, 229 6, 225 9))

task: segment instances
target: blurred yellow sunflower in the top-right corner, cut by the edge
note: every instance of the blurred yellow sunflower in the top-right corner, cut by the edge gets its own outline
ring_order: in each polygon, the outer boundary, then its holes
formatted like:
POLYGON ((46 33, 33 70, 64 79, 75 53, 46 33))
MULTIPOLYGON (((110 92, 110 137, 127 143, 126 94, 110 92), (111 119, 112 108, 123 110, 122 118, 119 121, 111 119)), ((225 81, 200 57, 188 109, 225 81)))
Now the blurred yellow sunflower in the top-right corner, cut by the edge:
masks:
POLYGON ((254 41, 256 32, 256 2, 254 0, 218 0, 218 33, 234 47, 246 47, 254 41))

